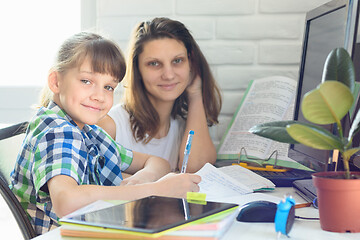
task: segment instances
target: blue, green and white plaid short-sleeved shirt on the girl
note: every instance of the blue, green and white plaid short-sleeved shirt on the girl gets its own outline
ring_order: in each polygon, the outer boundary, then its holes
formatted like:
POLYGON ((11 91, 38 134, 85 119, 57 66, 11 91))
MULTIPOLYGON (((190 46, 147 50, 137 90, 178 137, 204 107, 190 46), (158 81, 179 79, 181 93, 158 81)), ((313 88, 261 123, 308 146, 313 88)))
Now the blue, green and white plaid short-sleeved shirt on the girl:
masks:
MULTIPOLYGON (((31 217, 37 234, 58 225, 47 181, 57 175, 79 185, 119 185, 121 171, 132 162, 132 151, 118 145, 101 128, 76 123, 51 102, 40 108, 28 126, 14 171, 12 191, 31 217)), ((74 199, 76 201, 76 199, 74 199)))

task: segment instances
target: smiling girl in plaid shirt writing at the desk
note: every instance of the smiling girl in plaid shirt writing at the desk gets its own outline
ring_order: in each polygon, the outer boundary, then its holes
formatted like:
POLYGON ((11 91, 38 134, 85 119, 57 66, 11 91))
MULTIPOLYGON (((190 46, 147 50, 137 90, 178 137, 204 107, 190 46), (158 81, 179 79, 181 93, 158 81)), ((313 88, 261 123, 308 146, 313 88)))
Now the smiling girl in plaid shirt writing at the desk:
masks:
POLYGON ((38 234, 98 199, 185 197, 199 190, 199 176, 163 177, 170 171, 166 160, 132 152, 93 125, 111 108, 124 74, 121 52, 101 36, 79 33, 61 46, 48 76, 51 94, 29 123, 11 174, 38 234), (133 175, 123 180, 122 171, 133 175))

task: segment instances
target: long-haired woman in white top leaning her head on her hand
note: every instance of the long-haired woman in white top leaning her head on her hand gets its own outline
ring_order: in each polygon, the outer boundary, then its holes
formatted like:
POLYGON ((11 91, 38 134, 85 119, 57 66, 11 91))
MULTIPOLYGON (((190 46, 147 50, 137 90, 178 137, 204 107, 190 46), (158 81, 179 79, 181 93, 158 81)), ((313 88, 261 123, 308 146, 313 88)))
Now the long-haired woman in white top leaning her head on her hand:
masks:
POLYGON ((168 18, 142 22, 132 35, 125 101, 98 124, 127 148, 181 169, 189 130, 195 132, 188 172, 216 161, 208 126, 218 123, 221 96, 188 29, 168 18))

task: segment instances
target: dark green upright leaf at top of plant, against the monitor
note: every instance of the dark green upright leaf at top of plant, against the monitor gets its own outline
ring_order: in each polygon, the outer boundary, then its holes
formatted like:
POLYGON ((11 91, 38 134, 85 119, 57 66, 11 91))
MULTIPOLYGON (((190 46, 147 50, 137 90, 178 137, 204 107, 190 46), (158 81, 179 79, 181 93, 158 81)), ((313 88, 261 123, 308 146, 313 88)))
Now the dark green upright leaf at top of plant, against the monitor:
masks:
POLYGON ((349 53, 344 48, 332 50, 326 58, 322 81, 340 81, 354 92, 355 69, 349 53))

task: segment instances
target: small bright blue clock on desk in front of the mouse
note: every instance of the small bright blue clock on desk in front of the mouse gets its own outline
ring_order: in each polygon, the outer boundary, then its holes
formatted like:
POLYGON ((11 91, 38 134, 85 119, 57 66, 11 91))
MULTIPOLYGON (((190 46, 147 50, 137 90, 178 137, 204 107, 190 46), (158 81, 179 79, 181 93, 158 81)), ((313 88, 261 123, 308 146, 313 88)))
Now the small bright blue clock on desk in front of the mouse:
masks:
POLYGON ((288 236, 295 220, 295 200, 288 196, 277 205, 275 231, 288 236))

